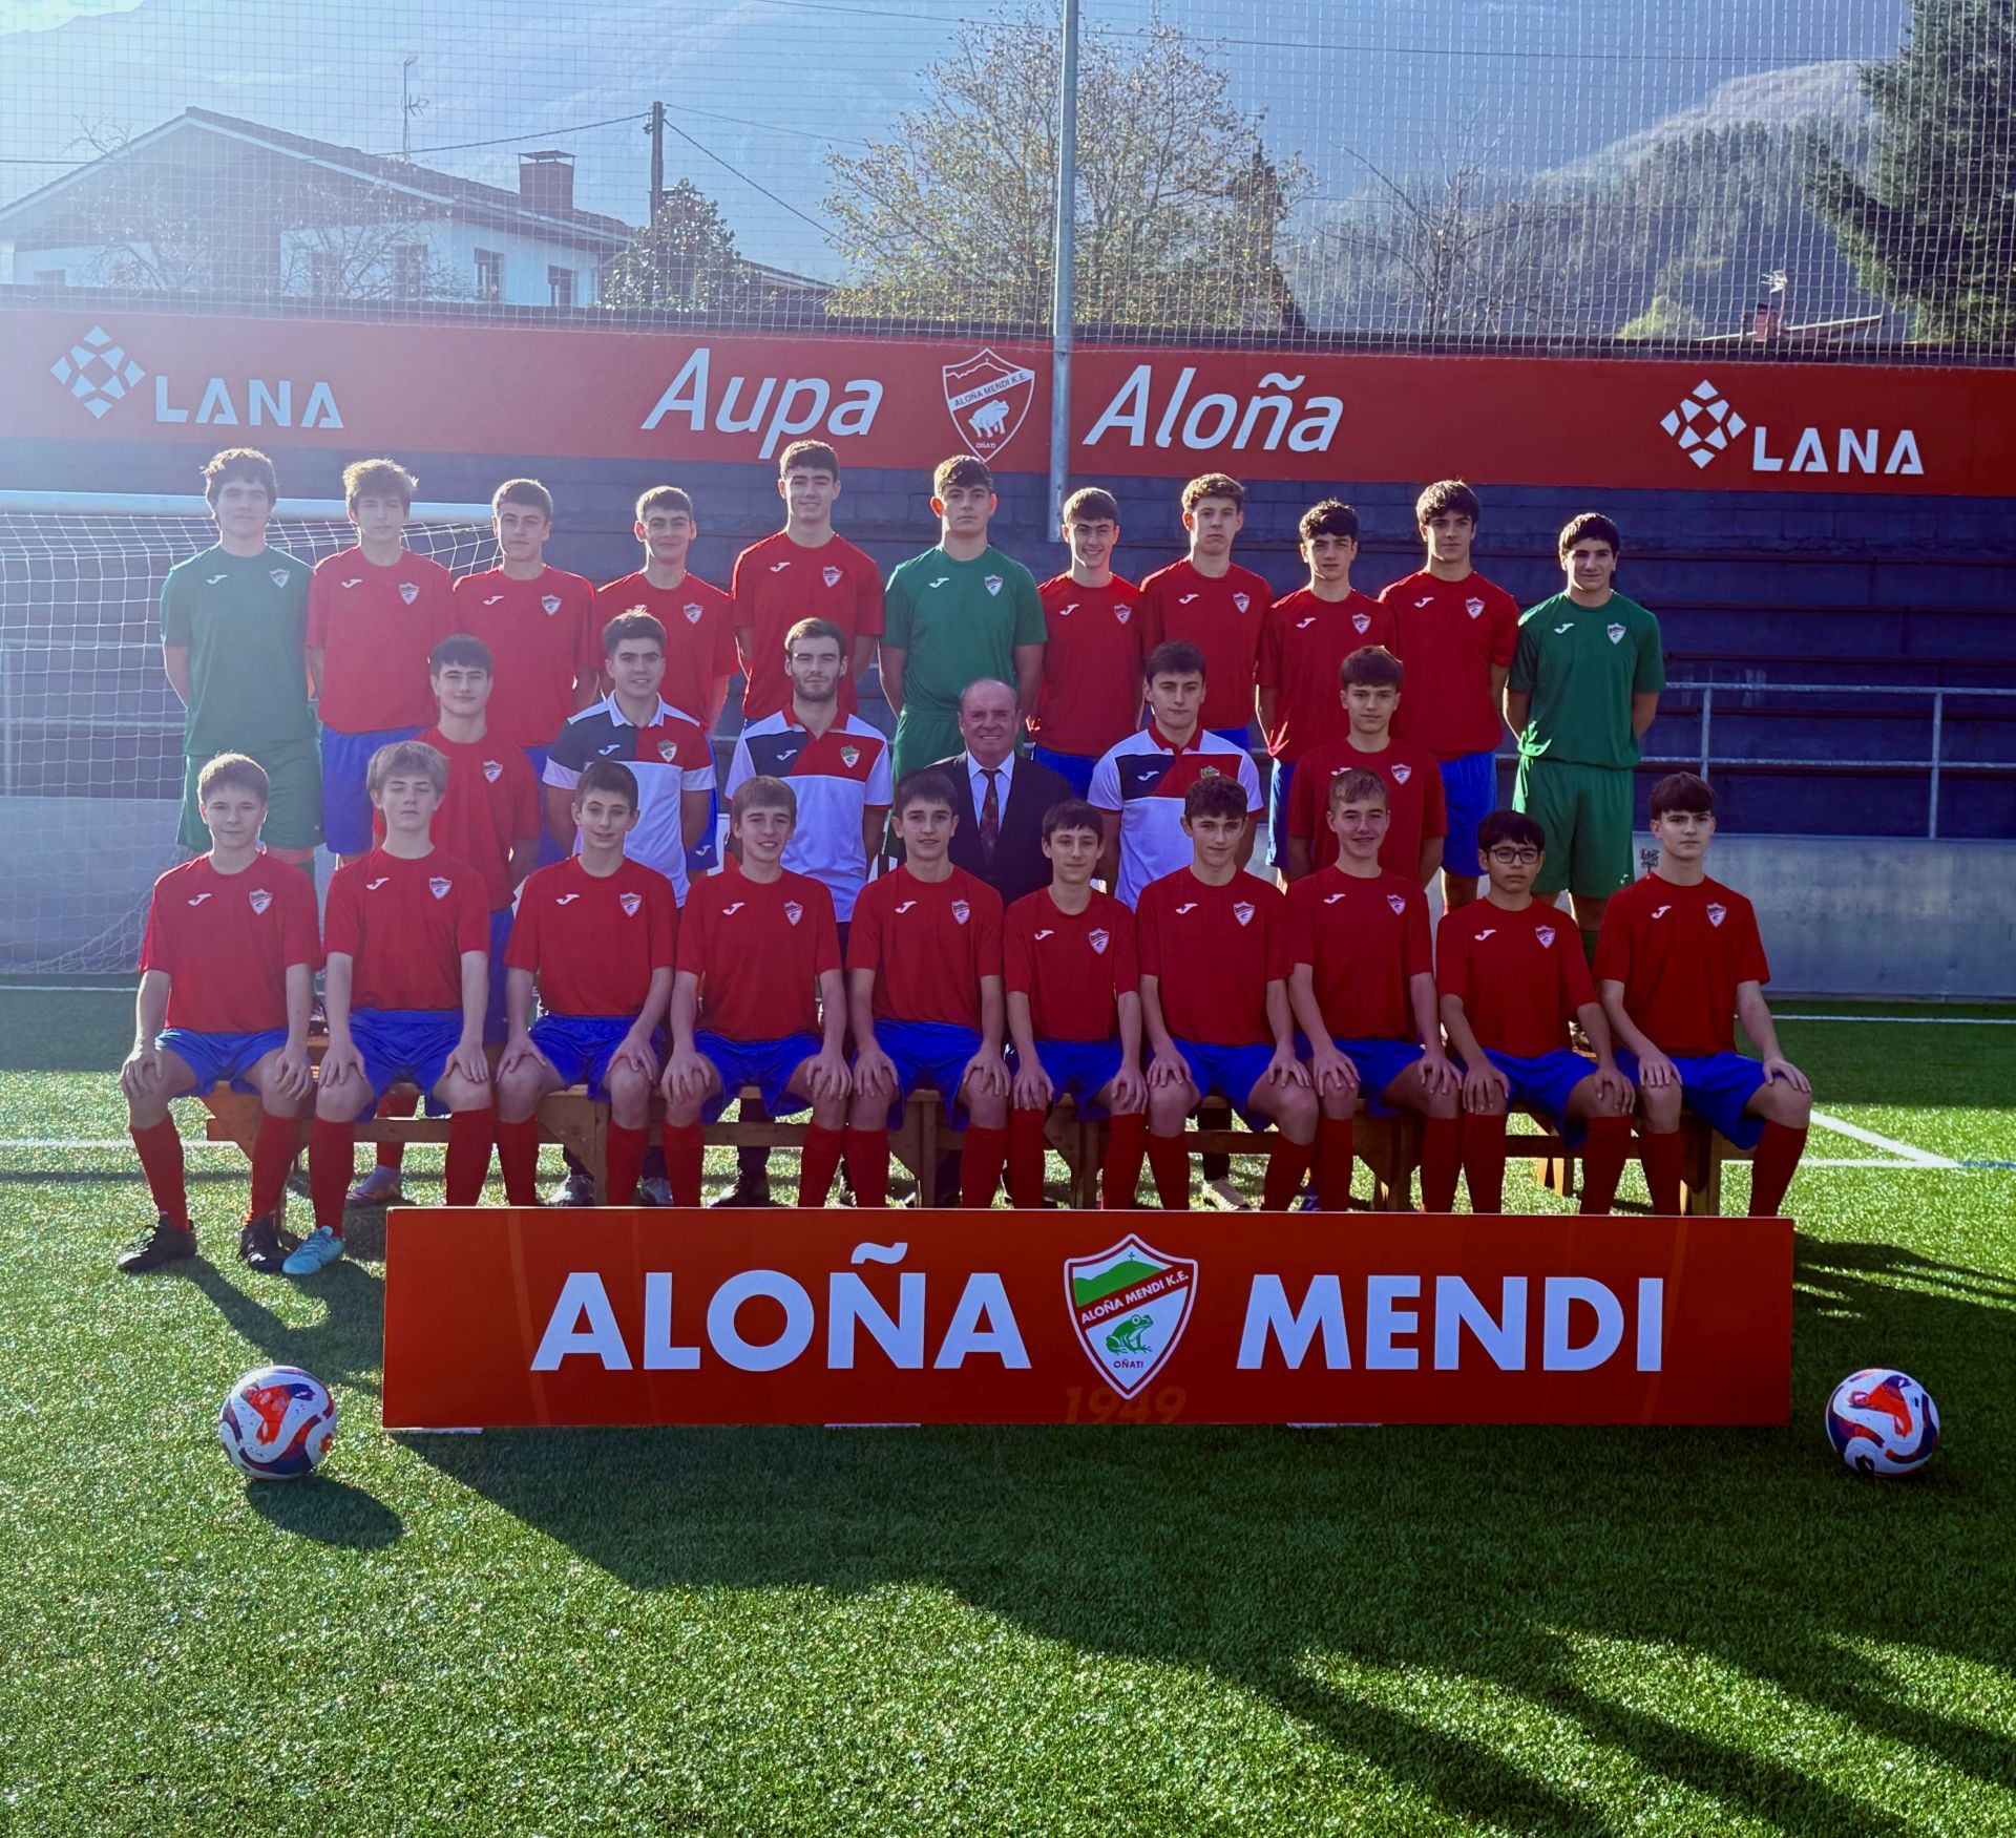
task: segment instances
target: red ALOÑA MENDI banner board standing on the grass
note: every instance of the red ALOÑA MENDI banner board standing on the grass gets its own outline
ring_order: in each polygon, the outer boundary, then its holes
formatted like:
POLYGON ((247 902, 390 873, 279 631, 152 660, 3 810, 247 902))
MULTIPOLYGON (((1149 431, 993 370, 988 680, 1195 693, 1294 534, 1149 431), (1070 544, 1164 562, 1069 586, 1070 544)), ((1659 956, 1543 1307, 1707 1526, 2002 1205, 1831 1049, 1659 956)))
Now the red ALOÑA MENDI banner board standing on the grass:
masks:
POLYGON ((387 1429, 1784 1423, 1786 1219, 423 1209, 387 1429))

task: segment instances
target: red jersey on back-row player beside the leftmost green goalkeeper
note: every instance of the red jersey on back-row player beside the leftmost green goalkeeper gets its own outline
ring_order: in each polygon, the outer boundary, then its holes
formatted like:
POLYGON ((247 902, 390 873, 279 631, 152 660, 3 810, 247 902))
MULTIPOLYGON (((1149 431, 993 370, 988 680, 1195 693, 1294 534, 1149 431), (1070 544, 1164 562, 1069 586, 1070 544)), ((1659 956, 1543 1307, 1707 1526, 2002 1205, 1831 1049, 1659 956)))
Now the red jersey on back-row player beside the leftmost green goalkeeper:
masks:
POLYGON ((450 625, 456 578, 427 556, 389 568, 361 548, 323 556, 308 576, 308 649, 323 653, 317 713, 339 734, 425 728, 433 719, 427 653, 450 625))

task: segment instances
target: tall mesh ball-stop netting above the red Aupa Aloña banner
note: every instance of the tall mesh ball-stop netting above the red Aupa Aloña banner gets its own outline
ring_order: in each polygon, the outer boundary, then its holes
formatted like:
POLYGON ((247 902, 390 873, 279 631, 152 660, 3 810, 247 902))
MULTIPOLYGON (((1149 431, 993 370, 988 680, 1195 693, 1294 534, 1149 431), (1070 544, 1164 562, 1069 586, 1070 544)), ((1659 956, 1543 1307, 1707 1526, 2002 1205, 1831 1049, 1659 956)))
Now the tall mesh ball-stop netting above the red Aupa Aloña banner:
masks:
MULTIPOLYGON (((1058 14, 16 0, 0 280, 1042 333, 1058 14)), ((2012 355, 2006 0, 1081 18, 1087 333, 2012 355)))

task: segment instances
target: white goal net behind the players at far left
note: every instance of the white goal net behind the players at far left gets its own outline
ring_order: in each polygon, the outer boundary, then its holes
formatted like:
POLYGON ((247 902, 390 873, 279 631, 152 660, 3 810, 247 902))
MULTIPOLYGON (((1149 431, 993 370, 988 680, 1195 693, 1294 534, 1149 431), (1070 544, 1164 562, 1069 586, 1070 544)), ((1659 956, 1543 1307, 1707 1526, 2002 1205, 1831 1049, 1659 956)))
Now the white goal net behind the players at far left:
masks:
MULTIPOLYGON (((341 504, 282 500, 268 542, 349 548, 341 504)), ((216 542, 202 500, 0 494, 0 971, 129 971, 147 891, 181 859, 181 703, 161 580, 216 542)), ((460 572, 482 506, 415 506, 407 546, 460 572)))

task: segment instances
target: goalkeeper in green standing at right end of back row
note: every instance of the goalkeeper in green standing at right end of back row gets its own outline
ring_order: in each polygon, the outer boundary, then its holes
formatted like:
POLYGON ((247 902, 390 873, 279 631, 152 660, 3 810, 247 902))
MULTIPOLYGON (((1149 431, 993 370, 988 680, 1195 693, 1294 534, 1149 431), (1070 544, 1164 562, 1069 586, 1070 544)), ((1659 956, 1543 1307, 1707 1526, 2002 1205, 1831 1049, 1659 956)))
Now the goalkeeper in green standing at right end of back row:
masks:
POLYGON ((1568 522, 1566 590, 1520 615, 1506 677, 1506 721, 1518 736, 1512 808, 1546 830, 1532 891, 1574 897, 1591 957, 1603 909, 1631 885, 1631 768, 1665 687, 1659 621, 1611 586, 1621 548, 1607 516, 1568 522))

